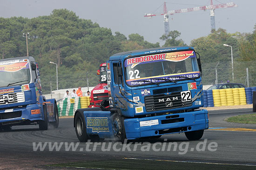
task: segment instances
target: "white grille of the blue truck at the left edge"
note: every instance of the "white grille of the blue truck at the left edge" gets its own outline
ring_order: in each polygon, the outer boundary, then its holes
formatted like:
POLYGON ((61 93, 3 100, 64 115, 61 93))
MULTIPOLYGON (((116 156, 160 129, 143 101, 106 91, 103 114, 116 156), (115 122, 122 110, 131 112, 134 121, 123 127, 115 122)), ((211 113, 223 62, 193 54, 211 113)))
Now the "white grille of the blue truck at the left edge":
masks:
POLYGON ((0 105, 20 103, 25 101, 24 92, 0 94, 0 105))

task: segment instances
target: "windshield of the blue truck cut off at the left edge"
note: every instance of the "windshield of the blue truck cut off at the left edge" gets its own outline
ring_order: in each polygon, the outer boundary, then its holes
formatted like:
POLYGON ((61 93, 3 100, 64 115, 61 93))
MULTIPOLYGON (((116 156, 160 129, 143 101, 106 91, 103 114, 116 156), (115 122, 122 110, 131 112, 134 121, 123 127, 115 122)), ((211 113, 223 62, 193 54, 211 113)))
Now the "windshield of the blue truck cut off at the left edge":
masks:
POLYGON ((0 87, 17 86, 30 82, 29 63, 0 65, 0 87))

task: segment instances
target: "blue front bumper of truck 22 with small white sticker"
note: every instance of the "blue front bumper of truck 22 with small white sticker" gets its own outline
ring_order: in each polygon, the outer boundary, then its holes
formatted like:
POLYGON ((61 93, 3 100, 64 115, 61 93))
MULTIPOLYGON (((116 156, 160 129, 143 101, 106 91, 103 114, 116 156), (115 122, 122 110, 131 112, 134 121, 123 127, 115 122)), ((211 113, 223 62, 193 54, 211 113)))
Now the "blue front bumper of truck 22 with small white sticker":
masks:
POLYGON ((127 139, 136 139, 208 129, 209 118, 208 111, 202 109, 186 113, 125 119, 124 125, 127 139))

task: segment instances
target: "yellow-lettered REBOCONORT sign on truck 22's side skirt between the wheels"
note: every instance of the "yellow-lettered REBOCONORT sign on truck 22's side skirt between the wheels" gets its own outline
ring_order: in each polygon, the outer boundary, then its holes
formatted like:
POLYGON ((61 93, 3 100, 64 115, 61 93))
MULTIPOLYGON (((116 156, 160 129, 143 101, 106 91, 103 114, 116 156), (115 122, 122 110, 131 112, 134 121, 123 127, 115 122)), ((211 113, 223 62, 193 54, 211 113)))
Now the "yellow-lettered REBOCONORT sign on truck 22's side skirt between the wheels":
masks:
POLYGON ((87 119, 87 128, 92 129, 92 132, 109 132, 108 118, 106 117, 91 117, 87 119))

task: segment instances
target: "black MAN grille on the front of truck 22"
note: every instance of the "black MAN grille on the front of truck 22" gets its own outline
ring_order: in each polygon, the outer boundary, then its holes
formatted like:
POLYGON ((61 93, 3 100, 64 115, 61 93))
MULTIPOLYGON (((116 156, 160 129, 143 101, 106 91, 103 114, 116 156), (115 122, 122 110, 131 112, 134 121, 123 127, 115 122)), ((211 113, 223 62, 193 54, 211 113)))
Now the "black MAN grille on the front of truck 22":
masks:
POLYGON ((145 96, 145 107, 147 112, 167 110, 179 107, 188 107, 192 101, 182 102, 181 92, 171 94, 157 94, 145 96))

